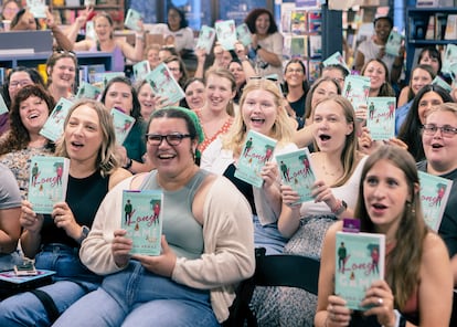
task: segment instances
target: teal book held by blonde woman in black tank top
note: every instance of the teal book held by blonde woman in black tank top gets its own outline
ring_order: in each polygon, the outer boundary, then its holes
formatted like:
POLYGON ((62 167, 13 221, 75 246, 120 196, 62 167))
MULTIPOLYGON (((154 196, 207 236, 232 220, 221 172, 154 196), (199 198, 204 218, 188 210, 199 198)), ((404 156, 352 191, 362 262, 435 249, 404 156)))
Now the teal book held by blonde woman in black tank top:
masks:
POLYGON ((65 201, 68 169, 68 158, 32 157, 29 172, 29 201, 34 212, 51 214, 54 203, 65 201))

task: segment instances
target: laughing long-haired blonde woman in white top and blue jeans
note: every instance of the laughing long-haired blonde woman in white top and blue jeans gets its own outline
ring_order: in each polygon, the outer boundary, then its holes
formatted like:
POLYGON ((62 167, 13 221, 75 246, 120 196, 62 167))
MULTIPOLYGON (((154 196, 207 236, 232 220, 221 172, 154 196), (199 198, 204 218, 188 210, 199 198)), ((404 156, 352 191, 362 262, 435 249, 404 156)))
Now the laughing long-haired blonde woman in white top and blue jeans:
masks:
POLYGON ((267 254, 281 253, 287 242, 277 229, 281 207, 278 167, 276 162, 267 162, 262 168, 262 188, 236 178, 234 172, 249 130, 278 141, 273 155, 296 149, 291 143, 294 130, 284 106, 283 95, 274 82, 247 82, 232 128, 206 148, 201 162, 203 169, 227 177, 246 197, 253 211, 255 245, 265 247, 267 254))

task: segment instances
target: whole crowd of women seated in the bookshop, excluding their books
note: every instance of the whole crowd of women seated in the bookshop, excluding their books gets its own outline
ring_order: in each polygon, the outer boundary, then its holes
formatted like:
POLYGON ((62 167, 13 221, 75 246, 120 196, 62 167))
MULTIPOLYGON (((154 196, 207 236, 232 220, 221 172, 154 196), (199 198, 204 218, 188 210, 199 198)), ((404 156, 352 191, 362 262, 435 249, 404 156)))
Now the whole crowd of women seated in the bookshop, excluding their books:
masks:
MULTIPOLYGON (((11 13, 12 29, 25 21, 36 29, 30 11, 4 1, 3 17, 11 13)), ((148 46, 142 22, 132 45, 114 36, 109 14, 91 8, 68 30, 51 15, 47 23, 56 39, 47 75, 14 67, 1 89, 9 112, 0 115, 0 270, 30 259, 56 273, 47 285, 0 298, 1 326, 138 327, 150 318, 155 326, 221 326, 236 286, 255 272, 255 247, 321 262, 318 295, 256 287, 251 306, 261 326, 449 325, 457 285, 457 104, 453 92, 433 84, 443 76, 436 49, 424 48, 406 67, 411 81, 397 89, 404 48, 386 54, 393 22, 375 19, 354 70, 370 78, 370 97, 397 99, 395 133, 380 140, 369 129, 368 104, 354 108, 342 95, 347 68, 328 65, 309 81, 302 61, 283 62, 283 35, 266 9, 245 18, 251 45, 215 43, 211 53, 193 48, 178 8, 156 27, 164 44, 148 46), (96 40, 76 41, 89 19, 96 40), (184 96, 170 103, 147 80, 124 75, 106 81, 98 101, 76 98, 82 50, 113 52, 117 72, 127 61, 146 60, 151 68, 164 63, 184 96), (191 53, 195 70, 187 66, 191 53), (40 131, 62 98, 72 106, 62 136, 50 140, 40 131), (121 144, 111 110, 135 120, 121 144), (261 187, 236 175, 249 133, 276 143, 258 173, 261 187), (304 147, 316 178, 312 200, 301 202, 281 182, 275 157, 304 147), (65 200, 50 214, 35 212, 28 199, 34 156, 70 160, 65 200), (418 171, 454 181, 436 231, 424 220, 418 171), (159 255, 130 254, 121 226, 125 190, 163 193, 159 255), (334 294, 343 218, 386 238, 385 277, 366 288, 365 312, 349 309, 334 294)))

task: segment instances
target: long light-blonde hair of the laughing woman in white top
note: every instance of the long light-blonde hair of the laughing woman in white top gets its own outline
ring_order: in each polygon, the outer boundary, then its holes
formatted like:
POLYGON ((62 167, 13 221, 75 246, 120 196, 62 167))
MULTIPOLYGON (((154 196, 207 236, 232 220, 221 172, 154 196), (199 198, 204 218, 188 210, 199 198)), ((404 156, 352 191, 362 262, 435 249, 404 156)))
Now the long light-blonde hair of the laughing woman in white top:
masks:
MULTIPOLYGON (((279 145, 290 143, 294 129, 286 113, 285 101, 279 92, 279 86, 275 82, 266 78, 249 80, 246 86, 244 86, 243 94, 240 99, 240 112, 243 110, 247 95, 256 89, 264 89, 270 93, 276 106, 276 120, 267 136, 278 140, 279 145)), ((243 115, 240 113, 238 115, 235 115, 232 127, 222 138, 223 148, 231 149, 236 155, 240 155, 246 138, 246 133, 247 127, 244 123, 243 115)))

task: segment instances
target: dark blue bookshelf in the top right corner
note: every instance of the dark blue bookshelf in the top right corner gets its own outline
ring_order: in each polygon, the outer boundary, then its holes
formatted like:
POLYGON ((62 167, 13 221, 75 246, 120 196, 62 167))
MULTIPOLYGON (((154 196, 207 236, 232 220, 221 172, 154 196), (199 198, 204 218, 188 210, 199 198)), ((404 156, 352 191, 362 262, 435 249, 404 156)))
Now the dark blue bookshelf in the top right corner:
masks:
POLYGON ((457 43, 457 38, 445 40, 447 18, 449 14, 457 14, 457 8, 406 9, 407 70, 414 66, 419 49, 438 45, 439 50, 443 50, 446 44, 457 43))

